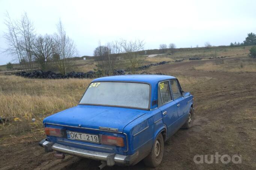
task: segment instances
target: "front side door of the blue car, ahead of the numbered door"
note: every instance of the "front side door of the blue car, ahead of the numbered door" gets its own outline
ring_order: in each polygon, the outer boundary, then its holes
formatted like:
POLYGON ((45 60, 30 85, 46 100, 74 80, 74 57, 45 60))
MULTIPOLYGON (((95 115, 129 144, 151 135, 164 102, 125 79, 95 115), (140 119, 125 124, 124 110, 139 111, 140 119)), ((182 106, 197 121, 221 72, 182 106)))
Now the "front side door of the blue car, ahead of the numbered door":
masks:
POLYGON ((173 100, 176 102, 178 120, 182 124, 187 120, 187 103, 182 96, 179 82, 176 79, 170 80, 170 86, 172 91, 173 100))

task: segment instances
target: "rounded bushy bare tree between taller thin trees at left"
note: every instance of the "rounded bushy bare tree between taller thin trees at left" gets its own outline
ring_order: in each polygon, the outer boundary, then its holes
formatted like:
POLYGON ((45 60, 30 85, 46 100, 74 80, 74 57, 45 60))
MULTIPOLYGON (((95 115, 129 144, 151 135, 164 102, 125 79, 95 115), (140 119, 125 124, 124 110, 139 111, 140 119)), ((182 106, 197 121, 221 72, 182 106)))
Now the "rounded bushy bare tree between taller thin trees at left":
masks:
POLYGON ((55 53, 55 42, 51 35, 39 35, 33 42, 32 54, 35 61, 41 66, 42 70, 48 69, 53 61, 55 53))

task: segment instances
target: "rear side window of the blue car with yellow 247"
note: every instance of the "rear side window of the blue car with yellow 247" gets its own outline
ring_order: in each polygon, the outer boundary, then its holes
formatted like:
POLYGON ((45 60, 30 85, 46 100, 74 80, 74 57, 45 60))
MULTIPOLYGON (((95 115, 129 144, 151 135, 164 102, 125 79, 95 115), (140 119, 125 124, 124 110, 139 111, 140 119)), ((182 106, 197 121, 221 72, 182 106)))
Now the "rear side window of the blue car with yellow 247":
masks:
POLYGON ((161 106, 164 103, 172 101, 169 81, 164 81, 159 83, 158 92, 159 91, 160 91, 160 94, 158 94, 158 106, 161 106))

